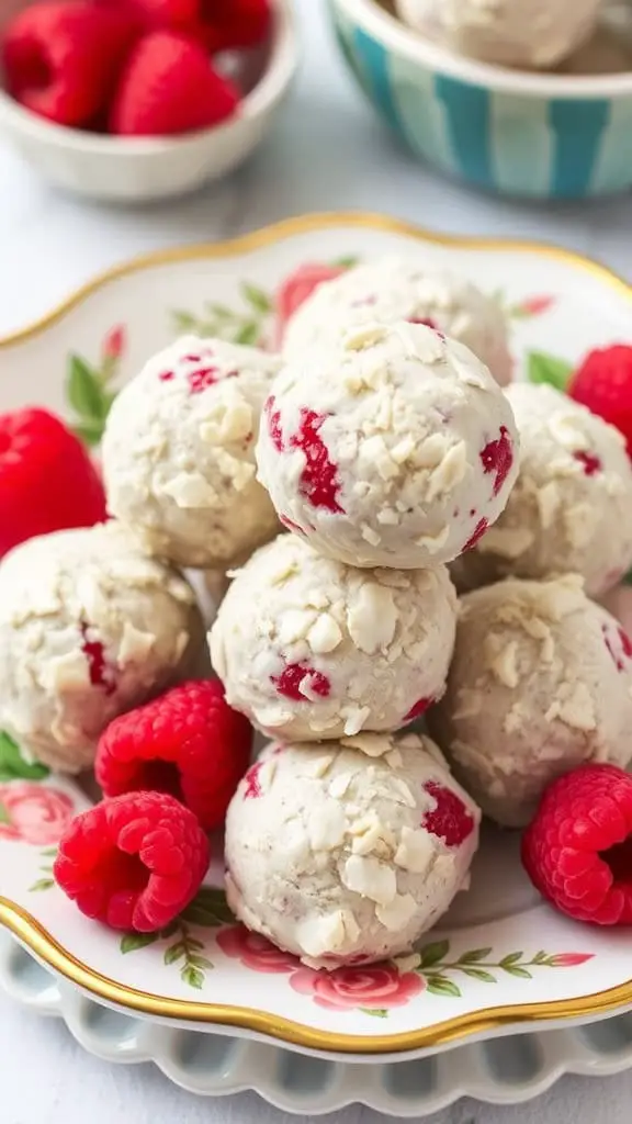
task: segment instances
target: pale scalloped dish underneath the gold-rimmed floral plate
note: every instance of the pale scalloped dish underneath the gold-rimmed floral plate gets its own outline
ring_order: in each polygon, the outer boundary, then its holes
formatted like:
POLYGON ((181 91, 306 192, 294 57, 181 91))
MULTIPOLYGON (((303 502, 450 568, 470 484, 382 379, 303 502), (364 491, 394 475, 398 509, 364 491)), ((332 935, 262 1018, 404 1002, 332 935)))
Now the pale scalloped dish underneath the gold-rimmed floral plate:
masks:
POLYGON ((632 1067, 632 1016, 586 1027, 512 1034, 457 1046, 425 1061, 382 1062, 298 1057, 245 1037, 174 1030, 108 1010, 55 978, 9 934, 0 933, 0 988, 34 1014, 62 1018, 88 1053, 118 1064, 151 1061, 199 1096, 254 1089, 301 1118, 363 1104, 419 1120, 461 1097, 515 1105, 545 1093, 565 1073, 611 1077, 632 1067))

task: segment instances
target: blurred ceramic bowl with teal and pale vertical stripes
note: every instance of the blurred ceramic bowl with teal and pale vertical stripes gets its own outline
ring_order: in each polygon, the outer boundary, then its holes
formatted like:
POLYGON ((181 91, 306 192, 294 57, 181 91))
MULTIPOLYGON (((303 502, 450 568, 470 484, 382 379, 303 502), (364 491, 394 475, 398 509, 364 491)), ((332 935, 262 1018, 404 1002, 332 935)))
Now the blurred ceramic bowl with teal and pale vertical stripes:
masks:
POLYGON ((421 38, 377 0, 329 7, 367 97, 415 154, 446 174, 538 199, 632 187, 632 71, 504 70, 421 38))

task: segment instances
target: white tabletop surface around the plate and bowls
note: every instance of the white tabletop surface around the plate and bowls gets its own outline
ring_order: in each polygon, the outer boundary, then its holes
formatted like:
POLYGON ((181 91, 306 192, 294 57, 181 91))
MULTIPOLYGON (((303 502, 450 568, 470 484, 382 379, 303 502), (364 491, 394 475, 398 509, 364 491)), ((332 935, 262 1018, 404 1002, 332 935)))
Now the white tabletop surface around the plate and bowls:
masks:
MULTIPOLYGON (((524 206, 471 194, 425 171, 373 119, 329 36, 324 0, 297 0, 299 81, 264 148, 224 184, 143 209, 78 203, 51 191, 0 139, 0 336, 28 324, 97 271, 168 244, 226 238, 310 210, 381 210, 441 230, 558 242, 632 279, 632 197, 524 206)), ((630 1124, 632 1072, 566 1079, 538 1102, 461 1102, 430 1124, 630 1124)), ((300 1117, 307 1120, 309 1117, 300 1117)), ((379 1124, 353 1107, 340 1124, 379 1124)), ((255 1095, 204 1100, 148 1066, 110 1067, 67 1031, 0 997, 1 1124, 290 1124, 255 1095)), ((323 1117, 332 1122, 333 1117, 323 1117)))

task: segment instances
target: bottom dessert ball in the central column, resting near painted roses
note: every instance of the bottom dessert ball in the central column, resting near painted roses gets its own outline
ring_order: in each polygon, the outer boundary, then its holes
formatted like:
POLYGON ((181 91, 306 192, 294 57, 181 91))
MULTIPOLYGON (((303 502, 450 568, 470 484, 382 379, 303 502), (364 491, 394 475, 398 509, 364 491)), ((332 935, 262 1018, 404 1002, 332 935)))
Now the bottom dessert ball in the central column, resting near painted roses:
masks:
POLYGON ((228 808, 228 903, 314 968, 404 954, 466 889, 479 821, 428 737, 272 744, 228 808))

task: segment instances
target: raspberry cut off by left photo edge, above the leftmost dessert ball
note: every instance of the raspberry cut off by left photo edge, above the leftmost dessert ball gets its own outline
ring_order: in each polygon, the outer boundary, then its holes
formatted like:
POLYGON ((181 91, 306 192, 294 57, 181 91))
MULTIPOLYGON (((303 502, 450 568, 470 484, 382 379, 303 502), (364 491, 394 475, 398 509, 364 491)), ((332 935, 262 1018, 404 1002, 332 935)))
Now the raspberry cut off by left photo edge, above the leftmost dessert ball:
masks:
POLYGON ((85 447, 46 410, 0 415, 0 556, 27 538, 106 518, 85 447))

